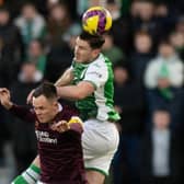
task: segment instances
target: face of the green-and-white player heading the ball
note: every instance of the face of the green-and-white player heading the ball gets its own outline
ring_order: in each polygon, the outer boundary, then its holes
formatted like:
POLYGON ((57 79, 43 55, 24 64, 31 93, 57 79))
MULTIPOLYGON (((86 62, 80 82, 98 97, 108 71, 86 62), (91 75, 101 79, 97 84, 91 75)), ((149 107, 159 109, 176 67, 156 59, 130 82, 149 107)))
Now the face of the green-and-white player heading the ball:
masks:
POLYGON ((92 49, 87 41, 77 37, 74 46, 74 60, 77 62, 90 62, 94 59, 95 49, 92 49))

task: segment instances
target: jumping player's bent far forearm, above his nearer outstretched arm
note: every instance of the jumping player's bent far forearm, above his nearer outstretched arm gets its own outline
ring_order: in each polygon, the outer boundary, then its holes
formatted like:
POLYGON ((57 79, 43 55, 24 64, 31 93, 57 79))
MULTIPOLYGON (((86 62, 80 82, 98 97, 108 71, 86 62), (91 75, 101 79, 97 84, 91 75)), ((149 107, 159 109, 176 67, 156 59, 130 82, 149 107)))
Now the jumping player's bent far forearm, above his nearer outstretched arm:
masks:
POLYGON ((68 68, 62 76, 55 82, 56 87, 62 87, 71 83, 73 79, 72 68, 68 68))

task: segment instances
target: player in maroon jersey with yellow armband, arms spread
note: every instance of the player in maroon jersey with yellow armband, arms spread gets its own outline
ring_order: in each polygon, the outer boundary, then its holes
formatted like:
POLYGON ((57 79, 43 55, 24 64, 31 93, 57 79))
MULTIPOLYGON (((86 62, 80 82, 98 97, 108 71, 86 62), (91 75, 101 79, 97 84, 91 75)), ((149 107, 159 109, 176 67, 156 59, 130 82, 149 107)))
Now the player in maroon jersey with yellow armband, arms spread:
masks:
MULTIPOLYGON (((82 120, 74 110, 58 103, 54 84, 45 82, 34 91, 31 110, 13 104, 8 89, 0 89, 0 102, 19 118, 35 123, 41 183, 87 184, 81 146, 82 120)), ((34 168, 31 173, 35 174, 34 168)))

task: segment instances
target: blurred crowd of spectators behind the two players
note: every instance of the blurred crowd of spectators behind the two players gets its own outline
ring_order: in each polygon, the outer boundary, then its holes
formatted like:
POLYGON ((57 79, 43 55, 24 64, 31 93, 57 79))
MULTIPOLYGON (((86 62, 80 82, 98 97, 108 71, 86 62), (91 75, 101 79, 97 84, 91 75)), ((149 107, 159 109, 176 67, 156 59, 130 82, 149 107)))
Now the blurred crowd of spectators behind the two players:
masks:
MULTIPOLYGON (((0 87, 26 105, 43 80, 71 65, 82 13, 104 5, 113 16, 103 54, 113 64, 120 142, 111 184, 182 184, 184 175, 183 0, 0 0, 0 87)), ((15 175, 36 156, 34 125, 0 106, 0 166, 11 141, 15 175)))

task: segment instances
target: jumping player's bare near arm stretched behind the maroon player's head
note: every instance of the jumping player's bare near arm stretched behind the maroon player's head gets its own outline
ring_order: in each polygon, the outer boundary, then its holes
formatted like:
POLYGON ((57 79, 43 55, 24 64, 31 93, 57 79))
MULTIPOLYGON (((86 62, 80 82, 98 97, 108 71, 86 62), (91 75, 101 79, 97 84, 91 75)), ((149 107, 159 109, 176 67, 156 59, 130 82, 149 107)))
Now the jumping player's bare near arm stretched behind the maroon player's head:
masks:
POLYGON ((81 81, 77 85, 57 87, 59 97, 68 100, 82 100, 95 90, 95 87, 89 81, 81 81))

